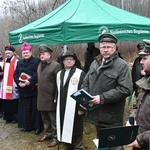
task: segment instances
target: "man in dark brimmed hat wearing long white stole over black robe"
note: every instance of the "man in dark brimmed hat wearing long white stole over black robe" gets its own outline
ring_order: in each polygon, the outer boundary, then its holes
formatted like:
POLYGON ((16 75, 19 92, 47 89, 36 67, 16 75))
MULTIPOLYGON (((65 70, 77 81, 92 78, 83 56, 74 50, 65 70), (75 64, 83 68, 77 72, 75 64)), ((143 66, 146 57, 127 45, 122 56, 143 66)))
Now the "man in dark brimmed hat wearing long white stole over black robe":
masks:
POLYGON ((85 73, 76 67, 76 55, 62 55, 64 69, 57 74, 57 138, 67 150, 83 150, 83 111, 70 95, 82 84, 85 73))

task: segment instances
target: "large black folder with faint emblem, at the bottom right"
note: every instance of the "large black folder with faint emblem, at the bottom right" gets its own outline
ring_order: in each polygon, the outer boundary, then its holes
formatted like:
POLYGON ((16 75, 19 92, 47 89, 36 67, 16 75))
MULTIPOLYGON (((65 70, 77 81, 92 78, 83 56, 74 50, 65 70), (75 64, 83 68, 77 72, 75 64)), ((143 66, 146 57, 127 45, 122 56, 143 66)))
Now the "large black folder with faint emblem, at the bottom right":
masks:
POLYGON ((100 129, 98 148, 122 146, 132 143, 136 139, 138 127, 138 125, 135 125, 100 129))

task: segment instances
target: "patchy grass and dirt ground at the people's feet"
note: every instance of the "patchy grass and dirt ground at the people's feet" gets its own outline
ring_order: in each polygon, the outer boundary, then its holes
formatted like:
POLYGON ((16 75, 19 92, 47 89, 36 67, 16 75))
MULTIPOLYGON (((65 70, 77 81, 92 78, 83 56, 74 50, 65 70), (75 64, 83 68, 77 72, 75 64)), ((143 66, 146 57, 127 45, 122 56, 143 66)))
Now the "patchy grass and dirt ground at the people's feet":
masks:
MULTIPOLYGON (((130 105, 131 106, 131 105, 130 105)), ((128 118, 130 113, 130 106, 126 104, 125 119, 128 118)), ((7 123, 0 119, 0 150, 58 150, 58 147, 48 148, 48 141, 39 143, 37 140, 41 138, 44 133, 35 135, 34 131, 24 132, 18 129, 17 124, 7 123)), ((95 138, 95 128, 89 124, 87 119, 84 118, 84 149, 94 150, 95 146, 92 140, 95 138)), ((60 144, 60 148, 63 144, 60 144)), ((129 150, 129 148, 126 148, 129 150)))

